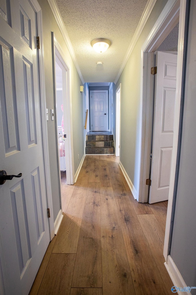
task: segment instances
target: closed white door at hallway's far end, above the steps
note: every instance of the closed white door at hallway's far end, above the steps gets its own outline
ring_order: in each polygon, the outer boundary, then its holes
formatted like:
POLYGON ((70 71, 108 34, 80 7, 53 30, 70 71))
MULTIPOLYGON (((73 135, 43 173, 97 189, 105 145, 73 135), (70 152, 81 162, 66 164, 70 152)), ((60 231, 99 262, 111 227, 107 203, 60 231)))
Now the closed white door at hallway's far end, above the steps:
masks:
POLYGON ((91 96, 91 131, 107 131, 108 92, 90 91, 91 96))

